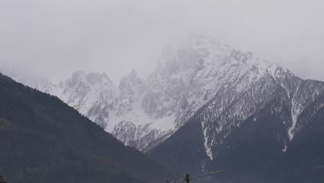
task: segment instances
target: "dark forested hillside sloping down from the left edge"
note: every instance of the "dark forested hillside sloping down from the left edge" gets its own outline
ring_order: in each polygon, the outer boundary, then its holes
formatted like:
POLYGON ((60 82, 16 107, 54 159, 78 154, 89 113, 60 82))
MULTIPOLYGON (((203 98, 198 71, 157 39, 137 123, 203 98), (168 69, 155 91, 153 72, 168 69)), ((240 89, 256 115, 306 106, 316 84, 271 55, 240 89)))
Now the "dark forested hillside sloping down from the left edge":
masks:
POLYGON ((55 96, 0 75, 0 173, 7 182, 159 182, 173 173, 55 96))

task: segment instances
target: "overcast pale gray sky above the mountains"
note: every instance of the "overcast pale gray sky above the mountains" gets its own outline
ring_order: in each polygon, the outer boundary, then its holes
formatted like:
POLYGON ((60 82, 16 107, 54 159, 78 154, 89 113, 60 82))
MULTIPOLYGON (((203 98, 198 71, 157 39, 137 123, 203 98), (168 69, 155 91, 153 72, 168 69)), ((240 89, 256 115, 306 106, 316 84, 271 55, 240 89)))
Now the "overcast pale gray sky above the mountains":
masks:
POLYGON ((323 0, 0 0, 0 61, 54 80, 147 77, 172 37, 199 33, 324 80, 323 0))

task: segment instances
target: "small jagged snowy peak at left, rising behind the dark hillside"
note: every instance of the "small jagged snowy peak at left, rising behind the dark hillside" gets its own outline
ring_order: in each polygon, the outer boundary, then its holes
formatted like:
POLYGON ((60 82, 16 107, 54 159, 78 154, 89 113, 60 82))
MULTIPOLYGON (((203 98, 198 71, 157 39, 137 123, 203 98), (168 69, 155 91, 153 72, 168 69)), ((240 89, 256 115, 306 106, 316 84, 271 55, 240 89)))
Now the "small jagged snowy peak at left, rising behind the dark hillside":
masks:
POLYGON ((77 71, 66 80, 62 100, 105 128, 117 103, 116 89, 105 73, 77 71))

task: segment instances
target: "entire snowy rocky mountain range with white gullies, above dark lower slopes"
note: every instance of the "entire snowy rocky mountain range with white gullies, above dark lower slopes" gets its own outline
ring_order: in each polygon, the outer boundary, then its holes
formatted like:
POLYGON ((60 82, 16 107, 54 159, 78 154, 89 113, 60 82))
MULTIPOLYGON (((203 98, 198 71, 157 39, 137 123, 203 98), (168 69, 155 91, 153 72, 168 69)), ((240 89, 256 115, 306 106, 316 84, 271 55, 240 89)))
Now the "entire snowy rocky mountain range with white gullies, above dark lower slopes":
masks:
POLYGON ((59 86, 30 86, 58 96, 120 141, 143 151, 172 134, 174 138, 195 119, 204 157, 199 167, 213 162, 233 132, 251 116, 258 121, 258 114, 273 101, 280 103, 271 109, 282 124, 277 135, 281 153, 310 123, 301 119, 302 114, 316 102, 312 115, 323 107, 323 82, 302 80, 278 64, 201 35, 165 46, 147 80, 132 71, 114 87, 105 74, 80 71, 59 86))

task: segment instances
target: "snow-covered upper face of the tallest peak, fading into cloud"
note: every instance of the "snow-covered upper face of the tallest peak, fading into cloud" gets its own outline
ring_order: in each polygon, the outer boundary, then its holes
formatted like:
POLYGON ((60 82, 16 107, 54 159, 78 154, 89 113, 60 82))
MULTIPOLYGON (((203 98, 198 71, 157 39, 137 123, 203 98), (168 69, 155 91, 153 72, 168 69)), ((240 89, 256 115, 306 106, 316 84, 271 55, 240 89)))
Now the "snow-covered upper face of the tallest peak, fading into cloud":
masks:
POLYGON ((181 125, 224 87, 224 91, 235 87, 241 93, 267 73, 278 75, 278 64, 260 60, 251 52, 200 35, 183 40, 176 46, 168 44, 165 50, 169 52, 163 51, 167 55, 160 58, 148 80, 143 107, 156 119, 176 113, 181 125), (181 119, 183 114, 186 117, 181 119))

